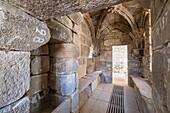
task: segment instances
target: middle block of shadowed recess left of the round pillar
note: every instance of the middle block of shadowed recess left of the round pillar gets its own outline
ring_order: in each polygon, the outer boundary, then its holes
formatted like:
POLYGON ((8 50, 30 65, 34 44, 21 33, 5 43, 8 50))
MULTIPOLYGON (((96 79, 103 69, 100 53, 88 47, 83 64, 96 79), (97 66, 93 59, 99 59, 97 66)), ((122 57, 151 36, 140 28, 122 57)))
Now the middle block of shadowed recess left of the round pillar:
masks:
POLYGON ((31 73, 33 75, 49 71, 49 56, 35 56, 31 61, 31 73))

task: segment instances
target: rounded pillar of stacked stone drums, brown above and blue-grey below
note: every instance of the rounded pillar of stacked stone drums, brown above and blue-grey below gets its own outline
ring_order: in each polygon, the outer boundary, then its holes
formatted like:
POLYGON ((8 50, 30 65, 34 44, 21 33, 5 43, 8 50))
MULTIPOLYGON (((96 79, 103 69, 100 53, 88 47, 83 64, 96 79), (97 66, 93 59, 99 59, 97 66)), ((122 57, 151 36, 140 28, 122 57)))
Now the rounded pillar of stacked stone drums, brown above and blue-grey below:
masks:
MULTIPOLYGON (((81 17, 80 13, 75 15, 81 17)), ((71 99, 70 112, 76 113, 79 111, 79 19, 72 17, 58 17, 48 22, 51 30, 49 85, 51 92, 71 99)))

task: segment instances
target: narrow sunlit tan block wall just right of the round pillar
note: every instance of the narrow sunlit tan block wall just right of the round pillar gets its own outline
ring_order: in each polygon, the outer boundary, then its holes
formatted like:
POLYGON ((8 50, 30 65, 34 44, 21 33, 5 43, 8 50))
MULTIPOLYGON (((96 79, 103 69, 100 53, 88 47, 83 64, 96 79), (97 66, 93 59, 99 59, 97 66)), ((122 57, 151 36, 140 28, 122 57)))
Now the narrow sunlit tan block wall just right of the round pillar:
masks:
POLYGON ((93 60, 89 58, 91 46, 92 46, 91 31, 89 30, 86 21, 83 20, 80 25, 80 45, 79 45, 80 54, 79 54, 79 68, 78 68, 79 78, 85 76, 88 72, 93 71, 93 70, 89 71, 90 67, 88 67, 89 62, 91 63, 93 62, 93 60))

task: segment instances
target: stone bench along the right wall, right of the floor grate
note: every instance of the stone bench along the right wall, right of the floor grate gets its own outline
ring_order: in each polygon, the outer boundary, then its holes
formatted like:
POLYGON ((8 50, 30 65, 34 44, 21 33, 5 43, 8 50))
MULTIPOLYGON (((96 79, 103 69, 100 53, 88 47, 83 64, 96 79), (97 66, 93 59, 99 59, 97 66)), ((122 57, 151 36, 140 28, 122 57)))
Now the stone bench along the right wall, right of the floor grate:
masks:
POLYGON ((154 113, 152 87, 146 79, 131 76, 134 83, 134 91, 141 113, 154 113))

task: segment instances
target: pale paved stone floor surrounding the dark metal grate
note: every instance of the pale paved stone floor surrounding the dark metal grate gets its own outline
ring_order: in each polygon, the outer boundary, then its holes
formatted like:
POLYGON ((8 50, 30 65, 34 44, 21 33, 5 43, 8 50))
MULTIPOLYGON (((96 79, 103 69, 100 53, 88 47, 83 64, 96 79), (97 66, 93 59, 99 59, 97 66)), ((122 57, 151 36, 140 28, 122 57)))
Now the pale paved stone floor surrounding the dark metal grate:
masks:
POLYGON ((140 113, 133 88, 128 87, 126 80, 119 77, 114 78, 112 84, 101 83, 80 109, 80 113, 106 113, 112 88, 115 84, 124 87, 125 113, 140 113))

